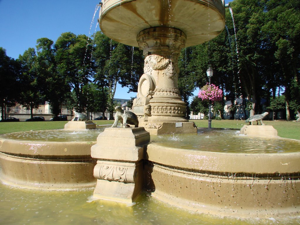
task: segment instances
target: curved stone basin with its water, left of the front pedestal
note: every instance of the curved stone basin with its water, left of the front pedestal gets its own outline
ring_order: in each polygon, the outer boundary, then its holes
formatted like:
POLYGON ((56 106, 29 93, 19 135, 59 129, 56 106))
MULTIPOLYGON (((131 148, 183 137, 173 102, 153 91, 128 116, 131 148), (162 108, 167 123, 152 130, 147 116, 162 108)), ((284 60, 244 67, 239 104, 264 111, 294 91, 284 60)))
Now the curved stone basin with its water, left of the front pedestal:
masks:
POLYGON ((4 183, 35 189, 94 187, 91 146, 104 128, 82 131, 27 131, 1 135, 4 183))

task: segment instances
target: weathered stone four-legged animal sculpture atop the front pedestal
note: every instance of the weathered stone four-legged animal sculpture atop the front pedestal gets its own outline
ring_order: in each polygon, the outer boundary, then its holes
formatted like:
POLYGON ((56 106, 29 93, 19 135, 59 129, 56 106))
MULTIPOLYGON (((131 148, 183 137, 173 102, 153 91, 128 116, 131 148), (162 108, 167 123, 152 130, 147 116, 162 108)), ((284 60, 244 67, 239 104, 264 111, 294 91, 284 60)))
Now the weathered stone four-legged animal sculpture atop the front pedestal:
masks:
POLYGON ((116 106, 115 110, 117 113, 115 115, 115 122, 113 123, 112 127, 117 127, 119 121, 121 122, 123 128, 126 128, 127 124, 139 127, 139 120, 137 119, 137 115, 135 115, 133 112, 122 110, 120 106, 116 106))

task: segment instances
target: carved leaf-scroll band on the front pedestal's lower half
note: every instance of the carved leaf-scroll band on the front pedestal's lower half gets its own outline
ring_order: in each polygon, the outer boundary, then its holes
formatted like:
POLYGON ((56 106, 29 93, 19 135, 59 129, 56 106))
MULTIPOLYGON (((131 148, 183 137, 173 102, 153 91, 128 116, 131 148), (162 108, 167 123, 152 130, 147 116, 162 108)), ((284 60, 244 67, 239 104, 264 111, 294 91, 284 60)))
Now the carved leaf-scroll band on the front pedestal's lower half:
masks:
POLYGON ((128 182, 127 167, 101 165, 99 177, 102 180, 128 182))

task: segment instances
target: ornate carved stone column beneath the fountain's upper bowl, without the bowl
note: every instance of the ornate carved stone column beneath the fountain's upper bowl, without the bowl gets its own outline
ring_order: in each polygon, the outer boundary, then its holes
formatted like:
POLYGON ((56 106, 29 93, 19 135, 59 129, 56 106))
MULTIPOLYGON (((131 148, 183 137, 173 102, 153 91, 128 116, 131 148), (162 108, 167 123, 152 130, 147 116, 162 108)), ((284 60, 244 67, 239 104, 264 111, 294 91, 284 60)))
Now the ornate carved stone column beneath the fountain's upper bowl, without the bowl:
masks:
POLYGON ((188 122, 186 104, 178 89, 178 57, 186 35, 179 29, 154 27, 137 36, 145 56, 133 112, 150 134, 196 133, 188 122))

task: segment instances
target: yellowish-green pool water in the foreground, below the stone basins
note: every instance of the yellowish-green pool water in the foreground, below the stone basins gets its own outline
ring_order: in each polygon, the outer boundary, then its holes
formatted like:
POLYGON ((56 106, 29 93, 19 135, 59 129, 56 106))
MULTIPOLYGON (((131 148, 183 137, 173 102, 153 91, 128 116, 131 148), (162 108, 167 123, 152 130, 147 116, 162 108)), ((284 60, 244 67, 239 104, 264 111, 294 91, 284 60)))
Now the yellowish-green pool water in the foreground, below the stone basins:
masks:
POLYGON ((0 184, 1 224, 146 224, 146 225, 268 225, 299 224, 299 219, 232 219, 184 211, 143 194, 136 204, 94 201, 87 202, 93 189, 79 191, 38 191, 0 184))

